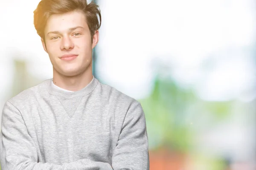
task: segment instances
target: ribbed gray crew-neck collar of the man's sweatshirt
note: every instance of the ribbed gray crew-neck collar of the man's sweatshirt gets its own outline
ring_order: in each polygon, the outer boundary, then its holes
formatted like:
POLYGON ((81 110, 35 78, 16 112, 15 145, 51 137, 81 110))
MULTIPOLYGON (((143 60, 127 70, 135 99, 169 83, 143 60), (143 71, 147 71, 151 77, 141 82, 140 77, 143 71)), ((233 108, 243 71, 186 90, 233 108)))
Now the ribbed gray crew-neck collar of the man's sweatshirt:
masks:
POLYGON ((88 95, 93 91, 93 89, 96 87, 96 85, 99 82, 99 80, 93 76, 92 81, 87 86, 85 86, 84 88, 82 88, 79 91, 74 91, 74 92, 70 93, 67 91, 62 91, 58 88, 54 88, 51 81, 52 81, 52 78, 45 80, 46 86, 47 86, 47 91, 49 92, 49 94, 52 94, 55 96, 60 96, 65 99, 72 99, 72 98, 88 95))

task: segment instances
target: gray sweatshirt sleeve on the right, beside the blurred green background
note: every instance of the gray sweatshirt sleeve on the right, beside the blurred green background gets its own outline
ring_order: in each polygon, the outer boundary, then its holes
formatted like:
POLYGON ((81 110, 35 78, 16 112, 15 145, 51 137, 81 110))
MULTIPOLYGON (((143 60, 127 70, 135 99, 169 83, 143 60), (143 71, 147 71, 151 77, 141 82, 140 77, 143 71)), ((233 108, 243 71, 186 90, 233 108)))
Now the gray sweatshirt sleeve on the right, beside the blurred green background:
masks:
POLYGON ((113 170, 149 170, 148 134, 139 102, 130 105, 113 151, 113 170))

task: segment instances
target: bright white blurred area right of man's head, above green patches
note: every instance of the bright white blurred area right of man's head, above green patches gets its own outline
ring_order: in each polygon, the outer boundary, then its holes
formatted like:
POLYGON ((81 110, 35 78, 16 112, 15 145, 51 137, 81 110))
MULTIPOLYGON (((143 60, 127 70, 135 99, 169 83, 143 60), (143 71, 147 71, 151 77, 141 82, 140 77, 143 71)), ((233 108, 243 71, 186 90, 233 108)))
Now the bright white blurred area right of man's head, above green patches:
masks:
POLYGON ((150 91, 154 58, 206 100, 241 97, 256 82, 255 60, 246 49, 255 41, 252 0, 111 0, 101 6, 99 75, 132 96, 150 91), (211 73, 201 68, 207 59, 213 60, 206 68, 211 73))

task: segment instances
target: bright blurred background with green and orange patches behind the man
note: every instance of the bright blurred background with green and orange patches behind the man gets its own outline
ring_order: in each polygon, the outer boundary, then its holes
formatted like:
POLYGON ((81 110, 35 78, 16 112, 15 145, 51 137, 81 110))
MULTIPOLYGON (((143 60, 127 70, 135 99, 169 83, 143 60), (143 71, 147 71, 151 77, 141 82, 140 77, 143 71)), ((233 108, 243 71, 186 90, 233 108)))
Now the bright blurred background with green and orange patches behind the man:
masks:
MULTIPOLYGON (((39 1, 0 1, 1 111, 52 77, 39 1)), ((256 1, 97 3, 93 74, 141 102, 150 170, 256 170, 256 1)))

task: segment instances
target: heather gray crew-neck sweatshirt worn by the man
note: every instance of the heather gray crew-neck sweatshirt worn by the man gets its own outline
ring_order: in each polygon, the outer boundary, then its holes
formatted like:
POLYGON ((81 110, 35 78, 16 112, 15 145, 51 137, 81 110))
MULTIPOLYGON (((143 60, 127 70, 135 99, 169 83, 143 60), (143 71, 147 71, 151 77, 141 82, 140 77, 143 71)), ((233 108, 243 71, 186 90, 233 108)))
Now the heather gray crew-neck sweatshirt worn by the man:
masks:
POLYGON ((5 103, 2 170, 149 170, 140 102, 95 77, 71 93, 51 81, 5 103))

